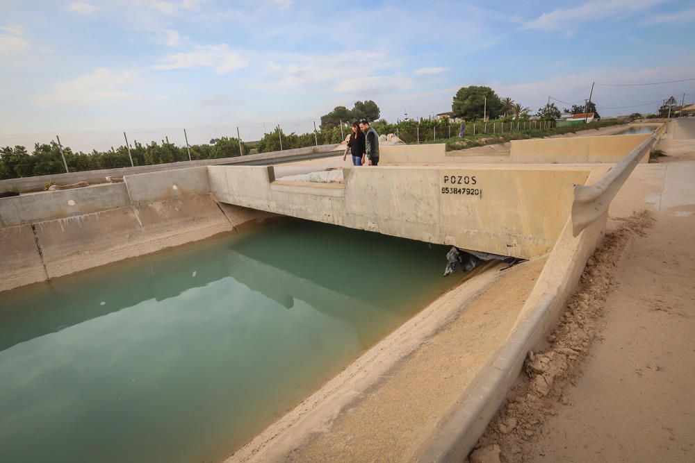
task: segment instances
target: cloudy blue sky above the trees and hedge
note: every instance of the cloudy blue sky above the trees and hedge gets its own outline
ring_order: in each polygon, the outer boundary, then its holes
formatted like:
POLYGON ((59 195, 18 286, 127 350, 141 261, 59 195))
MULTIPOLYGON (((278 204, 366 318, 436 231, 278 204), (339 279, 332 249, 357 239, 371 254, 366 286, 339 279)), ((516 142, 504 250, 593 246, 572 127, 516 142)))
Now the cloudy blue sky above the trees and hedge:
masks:
MULTIPOLYGON (((692 0, 0 0, 0 144, 236 126, 252 140, 358 99, 427 117, 464 85, 582 103, 592 81, 695 78, 694 31, 692 0)), ((597 85, 593 100, 614 115, 684 92, 695 81, 597 85)))

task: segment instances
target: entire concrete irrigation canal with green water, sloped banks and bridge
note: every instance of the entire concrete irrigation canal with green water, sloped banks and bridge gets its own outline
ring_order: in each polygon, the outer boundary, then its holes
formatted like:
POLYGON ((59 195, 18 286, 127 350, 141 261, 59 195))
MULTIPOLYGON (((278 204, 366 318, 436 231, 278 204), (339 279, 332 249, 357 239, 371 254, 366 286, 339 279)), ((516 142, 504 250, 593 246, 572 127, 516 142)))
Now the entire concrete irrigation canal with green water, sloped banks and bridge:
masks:
POLYGON ((463 460, 666 128, 0 199, 0 461, 463 460))

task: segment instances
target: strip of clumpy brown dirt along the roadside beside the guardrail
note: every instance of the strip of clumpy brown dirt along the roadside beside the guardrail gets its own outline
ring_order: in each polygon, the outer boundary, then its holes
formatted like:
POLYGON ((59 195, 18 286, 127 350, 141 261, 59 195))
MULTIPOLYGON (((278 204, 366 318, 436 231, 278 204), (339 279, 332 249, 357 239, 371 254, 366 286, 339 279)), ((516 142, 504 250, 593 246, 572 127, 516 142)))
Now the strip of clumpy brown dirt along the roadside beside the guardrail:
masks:
POLYGON ((578 290, 547 339, 548 348, 529 354, 505 405, 476 448, 498 445, 502 462, 532 461, 538 455, 534 437, 539 424, 547 416, 557 414, 558 404, 569 402, 562 395, 564 386, 579 373, 580 361, 600 331, 605 295, 614 284, 614 273, 623 251, 632 237, 644 236, 644 229, 653 224, 646 211, 621 221, 621 226, 607 233, 589 258, 578 290))

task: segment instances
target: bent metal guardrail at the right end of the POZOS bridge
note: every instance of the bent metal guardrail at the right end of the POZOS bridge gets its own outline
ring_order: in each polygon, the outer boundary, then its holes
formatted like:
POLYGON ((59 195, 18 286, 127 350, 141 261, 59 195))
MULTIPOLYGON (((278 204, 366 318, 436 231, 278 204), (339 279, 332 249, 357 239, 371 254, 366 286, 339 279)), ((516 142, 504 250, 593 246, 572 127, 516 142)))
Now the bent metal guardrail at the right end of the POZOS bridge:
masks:
POLYGON ((656 141, 657 135, 654 133, 630 151, 630 154, 614 165, 598 182, 574 187, 571 217, 572 234, 575 237, 608 210, 618 190, 656 141))

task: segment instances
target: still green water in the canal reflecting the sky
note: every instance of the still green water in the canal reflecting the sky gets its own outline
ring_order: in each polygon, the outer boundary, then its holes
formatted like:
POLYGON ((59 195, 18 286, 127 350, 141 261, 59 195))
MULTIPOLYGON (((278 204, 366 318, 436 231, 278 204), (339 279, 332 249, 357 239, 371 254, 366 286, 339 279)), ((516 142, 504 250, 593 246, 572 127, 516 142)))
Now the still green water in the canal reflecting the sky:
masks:
POLYGON ((0 294, 0 462, 215 462, 447 289, 444 246, 305 221, 0 294))

